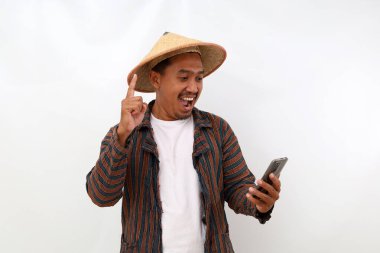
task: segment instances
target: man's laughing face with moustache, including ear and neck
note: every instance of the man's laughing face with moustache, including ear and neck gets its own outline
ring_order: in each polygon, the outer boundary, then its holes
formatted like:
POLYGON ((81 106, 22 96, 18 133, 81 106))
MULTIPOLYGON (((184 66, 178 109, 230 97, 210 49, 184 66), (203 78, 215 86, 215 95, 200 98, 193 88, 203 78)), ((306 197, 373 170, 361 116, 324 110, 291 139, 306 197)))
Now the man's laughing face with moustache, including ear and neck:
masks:
POLYGON ((162 74, 151 72, 156 88, 153 113, 162 120, 178 120, 191 116, 203 87, 203 65, 197 53, 185 53, 170 58, 162 74))

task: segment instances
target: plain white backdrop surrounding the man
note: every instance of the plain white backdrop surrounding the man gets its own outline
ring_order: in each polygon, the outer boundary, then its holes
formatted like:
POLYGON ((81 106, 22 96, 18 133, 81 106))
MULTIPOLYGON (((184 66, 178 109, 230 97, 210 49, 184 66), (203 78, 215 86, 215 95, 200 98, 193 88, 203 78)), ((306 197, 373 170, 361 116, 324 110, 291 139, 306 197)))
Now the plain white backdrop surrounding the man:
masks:
POLYGON ((230 123, 252 172, 289 158, 267 224, 226 205, 235 251, 379 252, 379 13, 375 0, 0 0, 0 252, 119 252, 121 202, 92 204, 85 176, 126 75, 165 31, 227 49, 197 106, 230 123))

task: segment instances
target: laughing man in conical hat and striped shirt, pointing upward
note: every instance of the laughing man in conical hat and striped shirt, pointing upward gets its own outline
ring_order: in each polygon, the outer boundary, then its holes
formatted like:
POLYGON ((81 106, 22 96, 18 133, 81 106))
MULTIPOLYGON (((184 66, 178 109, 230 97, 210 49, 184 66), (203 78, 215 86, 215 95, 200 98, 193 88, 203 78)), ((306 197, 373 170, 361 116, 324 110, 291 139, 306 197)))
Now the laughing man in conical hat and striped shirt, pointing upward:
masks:
POLYGON ((120 252, 234 252, 224 201, 270 218, 279 179, 259 180, 268 193, 257 191, 228 123, 194 107, 203 78, 225 58, 219 45, 165 33, 129 74, 120 122, 86 184, 98 206, 123 199, 120 252), (156 99, 148 105, 135 90, 156 99))

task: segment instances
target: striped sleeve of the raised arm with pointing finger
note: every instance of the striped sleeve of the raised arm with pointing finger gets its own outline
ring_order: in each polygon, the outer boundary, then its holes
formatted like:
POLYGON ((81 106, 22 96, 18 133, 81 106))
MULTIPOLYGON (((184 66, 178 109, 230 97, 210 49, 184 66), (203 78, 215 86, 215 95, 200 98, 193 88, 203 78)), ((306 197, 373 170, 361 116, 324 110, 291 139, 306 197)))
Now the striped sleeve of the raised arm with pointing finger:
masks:
POLYGON ((118 125, 112 127, 104 137, 100 155, 86 176, 86 191, 92 202, 100 207, 113 206, 122 197, 128 158, 128 143, 119 144, 118 125))

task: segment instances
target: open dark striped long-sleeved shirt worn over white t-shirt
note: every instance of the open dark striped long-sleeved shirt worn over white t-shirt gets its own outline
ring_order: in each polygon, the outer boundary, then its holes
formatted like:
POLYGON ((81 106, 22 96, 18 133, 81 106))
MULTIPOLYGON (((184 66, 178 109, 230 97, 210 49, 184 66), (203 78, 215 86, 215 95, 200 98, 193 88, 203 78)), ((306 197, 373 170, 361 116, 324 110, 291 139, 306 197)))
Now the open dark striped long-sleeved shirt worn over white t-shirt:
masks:
MULTIPOLYGON (((154 100, 125 146, 112 127, 101 143, 100 156, 87 174, 86 190, 98 206, 115 205, 122 198, 121 253, 162 252, 162 206, 159 195, 159 159, 150 122, 154 100)), ((270 219, 273 208, 259 213, 247 200, 255 177, 248 169, 238 140, 222 118, 193 109, 192 160, 201 185, 206 224, 204 252, 234 252, 229 237, 224 201, 235 211, 270 219)))

